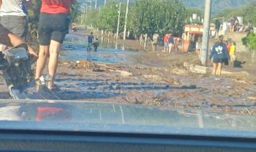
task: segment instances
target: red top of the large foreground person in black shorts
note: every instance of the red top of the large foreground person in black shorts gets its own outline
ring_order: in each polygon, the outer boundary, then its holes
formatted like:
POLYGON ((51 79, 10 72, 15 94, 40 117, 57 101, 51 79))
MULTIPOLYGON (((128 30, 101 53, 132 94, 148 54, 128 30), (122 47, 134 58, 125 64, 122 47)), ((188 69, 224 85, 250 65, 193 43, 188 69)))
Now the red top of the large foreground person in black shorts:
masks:
POLYGON ((69 13, 72 3, 76 0, 42 0, 42 6, 40 12, 46 12, 49 14, 69 13))

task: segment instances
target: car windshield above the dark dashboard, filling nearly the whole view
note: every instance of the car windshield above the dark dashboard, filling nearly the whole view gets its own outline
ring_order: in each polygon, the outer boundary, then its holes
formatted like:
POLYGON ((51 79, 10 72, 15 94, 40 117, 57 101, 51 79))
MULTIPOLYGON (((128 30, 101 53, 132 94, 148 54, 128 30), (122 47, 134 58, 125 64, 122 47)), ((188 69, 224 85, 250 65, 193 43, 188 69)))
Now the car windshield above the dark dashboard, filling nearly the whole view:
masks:
POLYGON ((0 6, 0 129, 256 137, 256 1, 0 6))

